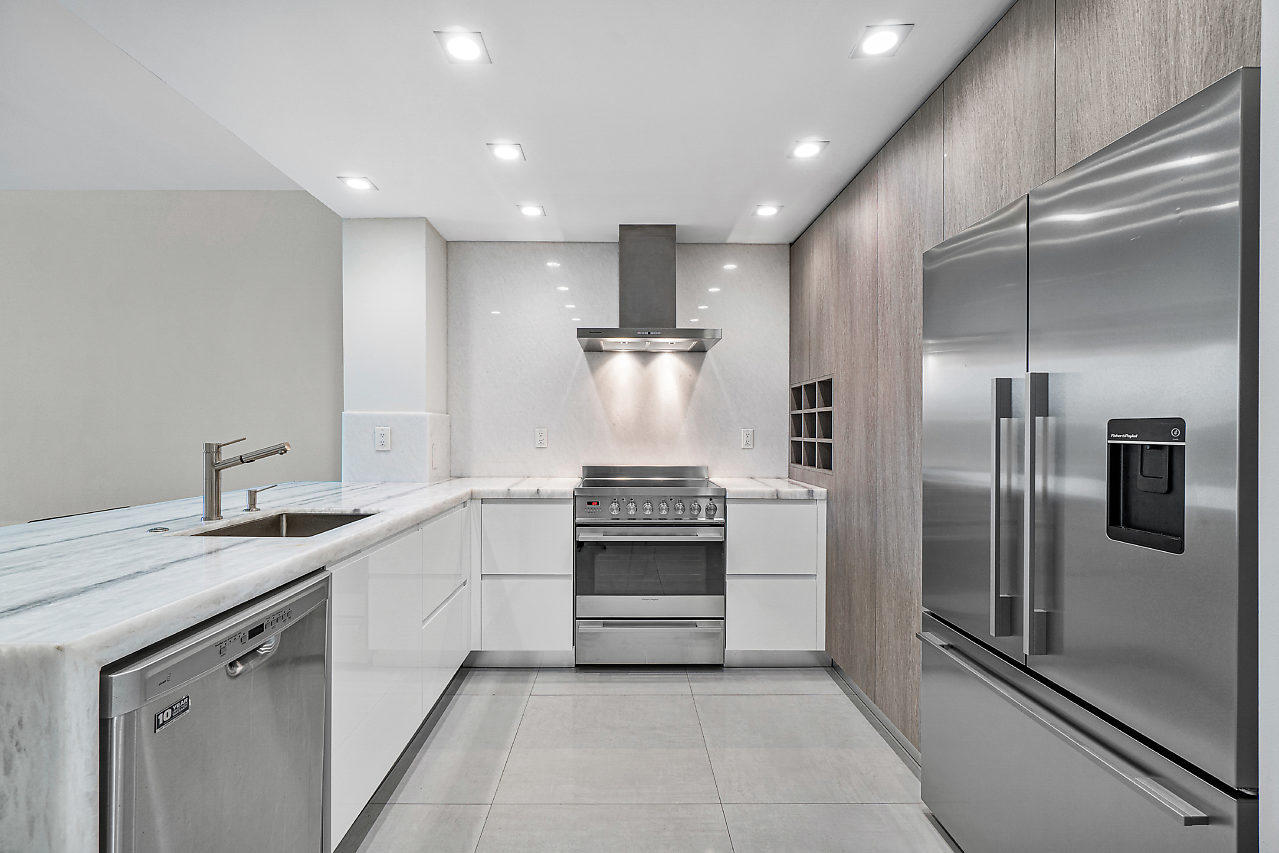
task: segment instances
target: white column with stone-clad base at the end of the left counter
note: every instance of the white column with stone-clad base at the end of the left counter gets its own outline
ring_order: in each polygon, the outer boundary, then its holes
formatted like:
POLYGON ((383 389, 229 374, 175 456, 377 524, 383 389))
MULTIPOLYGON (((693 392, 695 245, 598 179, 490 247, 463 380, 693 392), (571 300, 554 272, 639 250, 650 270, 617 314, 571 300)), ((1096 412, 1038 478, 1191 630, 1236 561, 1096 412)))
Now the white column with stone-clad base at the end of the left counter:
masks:
POLYGON ((449 476, 446 253, 425 219, 341 224, 343 481, 449 476))

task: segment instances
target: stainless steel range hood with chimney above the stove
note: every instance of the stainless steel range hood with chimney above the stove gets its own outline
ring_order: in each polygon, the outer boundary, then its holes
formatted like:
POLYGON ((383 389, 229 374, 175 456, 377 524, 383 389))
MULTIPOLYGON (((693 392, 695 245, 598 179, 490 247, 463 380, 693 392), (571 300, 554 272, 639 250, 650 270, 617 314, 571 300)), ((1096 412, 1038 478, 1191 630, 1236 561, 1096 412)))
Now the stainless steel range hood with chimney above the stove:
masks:
POLYGON ((618 326, 578 329, 588 353, 705 353, 719 329, 675 325, 675 226, 618 226, 618 326))

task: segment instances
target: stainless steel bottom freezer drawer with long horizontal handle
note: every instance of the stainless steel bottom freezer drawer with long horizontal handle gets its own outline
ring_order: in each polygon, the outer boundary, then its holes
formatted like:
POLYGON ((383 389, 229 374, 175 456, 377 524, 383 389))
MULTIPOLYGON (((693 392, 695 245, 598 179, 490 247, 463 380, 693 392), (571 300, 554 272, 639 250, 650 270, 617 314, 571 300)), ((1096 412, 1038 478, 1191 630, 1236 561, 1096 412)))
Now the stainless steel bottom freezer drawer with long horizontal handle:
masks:
POLYGON ((1242 853, 1256 801, 1207 784, 925 615, 923 802, 969 853, 1242 853))

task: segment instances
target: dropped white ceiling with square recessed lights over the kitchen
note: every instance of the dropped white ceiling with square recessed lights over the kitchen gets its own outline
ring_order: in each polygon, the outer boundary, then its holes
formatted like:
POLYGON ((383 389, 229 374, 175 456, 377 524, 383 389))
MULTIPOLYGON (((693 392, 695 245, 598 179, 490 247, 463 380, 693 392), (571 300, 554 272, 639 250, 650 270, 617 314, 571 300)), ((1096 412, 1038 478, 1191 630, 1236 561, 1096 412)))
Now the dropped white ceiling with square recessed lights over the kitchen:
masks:
POLYGON ((341 216, 426 216, 449 240, 677 223, 710 243, 793 239, 1008 3, 63 0, 341 216), (885 22, 916 24, 898 55, 848 59, 885 22), (458 26, 491 65, 445 60, 432 31, 458 26), (831 143, 788 159, 806 136, 831 143))

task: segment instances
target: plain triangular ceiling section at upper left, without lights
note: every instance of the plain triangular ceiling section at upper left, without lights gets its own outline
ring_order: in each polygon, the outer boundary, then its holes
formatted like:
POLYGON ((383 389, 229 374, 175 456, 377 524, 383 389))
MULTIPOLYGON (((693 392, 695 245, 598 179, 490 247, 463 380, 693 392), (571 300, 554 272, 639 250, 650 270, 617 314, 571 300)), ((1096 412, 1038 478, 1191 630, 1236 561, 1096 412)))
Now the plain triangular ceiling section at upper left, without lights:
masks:
POLYGON ((0 189, 297 189, 54 0, 0 0, 0 189))

